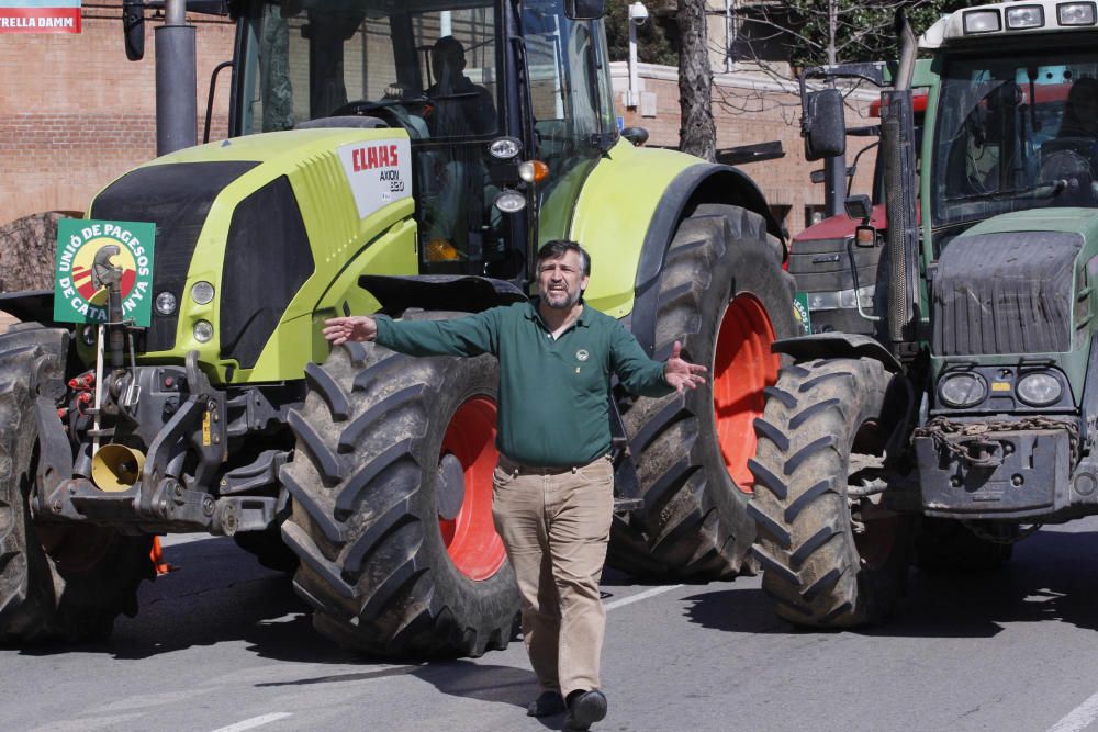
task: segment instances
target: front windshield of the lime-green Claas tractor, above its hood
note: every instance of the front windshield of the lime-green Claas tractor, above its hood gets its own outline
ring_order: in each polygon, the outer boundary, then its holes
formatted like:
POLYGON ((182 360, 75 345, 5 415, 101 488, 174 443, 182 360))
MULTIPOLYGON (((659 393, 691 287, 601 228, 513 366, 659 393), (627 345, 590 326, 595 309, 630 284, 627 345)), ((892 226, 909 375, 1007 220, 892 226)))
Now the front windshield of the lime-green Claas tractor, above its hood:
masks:
POLYGON ((294 0, 264 4, 250 32, 246 133, 318 117, 378 117, 413 139, 498 128, 496 11, 491 0, 294 0))

